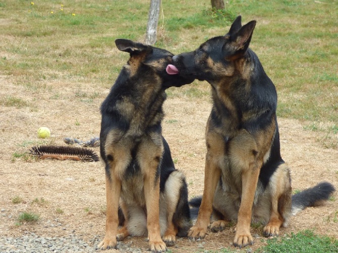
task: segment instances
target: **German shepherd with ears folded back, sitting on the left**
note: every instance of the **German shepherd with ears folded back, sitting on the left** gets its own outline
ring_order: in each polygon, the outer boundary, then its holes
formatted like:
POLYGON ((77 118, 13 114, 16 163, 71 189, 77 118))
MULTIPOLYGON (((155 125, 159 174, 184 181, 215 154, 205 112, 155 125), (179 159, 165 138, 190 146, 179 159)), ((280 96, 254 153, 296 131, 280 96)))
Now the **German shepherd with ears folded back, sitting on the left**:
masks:
POLYGON ((173 244, 191 227, 185 176, 175 169, 162 136, 165 89, 194 79, 166 73, 171 52, 126 39, 115 43, 130 58, 101 105, 107 209, 98 248, 116 248, 128 235, 148 235, 150 250, 161 252, 164 242, 173 244))

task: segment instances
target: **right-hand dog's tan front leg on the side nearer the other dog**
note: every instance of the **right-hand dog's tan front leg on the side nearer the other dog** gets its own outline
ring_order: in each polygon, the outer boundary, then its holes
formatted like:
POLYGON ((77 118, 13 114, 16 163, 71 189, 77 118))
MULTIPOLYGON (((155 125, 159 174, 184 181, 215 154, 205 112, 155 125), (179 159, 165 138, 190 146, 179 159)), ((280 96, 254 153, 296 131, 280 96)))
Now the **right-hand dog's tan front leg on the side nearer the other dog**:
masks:
POLYGON ((221 136, 215 133, 207 133, 206 139, 208 150, 205 159, 202 203, 196 224, 188 232, 188 236, 195 239, 204 238, 210 224, 213 197, 220 178, 219 163, 224 156, 225 145, 221 141, 223 139, 221 136))

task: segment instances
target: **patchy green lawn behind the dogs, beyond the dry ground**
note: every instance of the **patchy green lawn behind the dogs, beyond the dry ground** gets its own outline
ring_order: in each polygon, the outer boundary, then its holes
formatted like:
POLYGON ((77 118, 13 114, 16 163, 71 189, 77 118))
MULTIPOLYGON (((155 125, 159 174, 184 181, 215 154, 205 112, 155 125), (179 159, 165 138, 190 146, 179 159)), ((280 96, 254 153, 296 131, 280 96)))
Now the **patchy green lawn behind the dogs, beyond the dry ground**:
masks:
MULTIPOLYGON (((276 85, 278 116, 337 122, 338 33, 332 31, 338 25, 338 6, 334 3, 236 0, 228 1, 225 11, 214 11, 202 0, 184 5, 179 0, 166 1, 161 7, 156 45, 175 53, 193 50, 206 39, 225 34, 238 14, 243 23, 255 19, 251 47, 276 85)), ((64 3, 63 7, 54 1, 34 5, 22 0, 2 2, 0 15, 6 25, 2 26, 0 71, 32 94, 41 90, 52 93, 49 84, 55 81, 110 87, 128 55, 109 51, 115 48, 116 38, 144 38, 148 8, 149 3, 141 0, 86 0, 64 3)), ((205 85, 195 84, 174 95, 209 96, 205 85)), ((79 95, 85 103, 99 97, 79 95)), ((50 97, 59 99, 60 94, 50 97)), ((11 96, 0 97, 0 104, 30 106, 11 96)))

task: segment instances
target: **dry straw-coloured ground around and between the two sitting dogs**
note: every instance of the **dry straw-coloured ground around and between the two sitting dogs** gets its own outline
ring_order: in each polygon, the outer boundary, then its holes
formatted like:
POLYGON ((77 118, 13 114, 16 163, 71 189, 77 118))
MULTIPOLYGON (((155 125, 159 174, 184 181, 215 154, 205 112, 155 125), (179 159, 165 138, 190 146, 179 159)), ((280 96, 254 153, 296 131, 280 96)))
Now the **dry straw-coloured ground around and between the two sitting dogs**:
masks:
MULTIPOLYGON (((2 101, 21 98, 22 106, 0 108, 0 236, 21 236, 27 231, 41 236, 67 236, 76 233, 90 241, 95 235, 103 238, 105 226, 105 183, 101 162, 40 160, 14 157, 36 144, 63 145, 63 138, 89 140, 99 135, 99 106, 108 90, 95 85, 46 83, 37 91, 13 84, 8 77, 0 77, 2 101), (89 94, 97 92, 94 99, 89 94), (57 94, 57 96, 55 96, 57 94), (79 94, 87 94, 79 96, 79 94), (41 126, 51 130, 47 140, 37 138, 41 126), (22 203, 13 204, 16 196, 22 203), (40 200, 33 203, 34 199, 40 200), (42 199, 42 201, 41 201, 42 199), (59 212, 57 212, 57 209, 59 212), (63 213, 60 213, 60 210, 63 213), (18 224, 22 212, 40 215, 37 222, 18 224)), ((166 113, 163 135, 169 143, 176 168, 184 171, 190 197, 203 191, 205 160, 205 123, 210 111, 209 98, 173 96, 164 104, 166 113)), ((319 181, 329 181, 338 189, 338 150, 323 148, 319 139, 325 133, 303 129, 306 122, 279 118, 281 153, 292 172, 294 189, 304 189, 319 181)), ((335 138, 337 138, 335 136, 335 138)), ((99 153, 99 149, 94 149, 99 153)), ((291 219, 281 235, 304 229, 338 238, 338 193, 323 206, 307 208, 291 219)), ((252 229, 258 234, 257 249, 266 243, 262 228, 252 229)), ((219 250, 232 247, 234 228, 210 233, 202 241, 180 239, 173 252, 219 250)), ((145 238, 132 238, 132 245, 147 248, 145 238)), ((114 250, 107 250, 112 252, 114 250)))

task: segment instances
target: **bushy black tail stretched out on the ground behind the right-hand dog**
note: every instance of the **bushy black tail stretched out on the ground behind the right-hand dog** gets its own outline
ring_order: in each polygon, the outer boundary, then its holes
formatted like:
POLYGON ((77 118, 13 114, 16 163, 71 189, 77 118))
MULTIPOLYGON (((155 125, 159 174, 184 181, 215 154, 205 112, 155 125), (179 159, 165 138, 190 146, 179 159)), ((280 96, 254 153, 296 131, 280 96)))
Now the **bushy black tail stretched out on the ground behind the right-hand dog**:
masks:
POLYGON ((292 214, 295 215, 307 207, 313 207, 321 201, 328 200, 334 191, 335 189, 332 184, 329 182, 321 182, 314 187, 293 195, 292 214))

